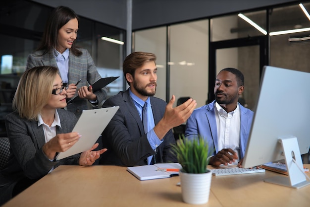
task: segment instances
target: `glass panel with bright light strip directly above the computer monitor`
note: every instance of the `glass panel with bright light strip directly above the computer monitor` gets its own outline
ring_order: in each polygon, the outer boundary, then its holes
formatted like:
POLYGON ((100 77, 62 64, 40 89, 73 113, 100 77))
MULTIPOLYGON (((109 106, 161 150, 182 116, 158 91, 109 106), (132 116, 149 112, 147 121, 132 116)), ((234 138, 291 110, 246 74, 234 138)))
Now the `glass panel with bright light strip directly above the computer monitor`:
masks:
MULTIPOLYGON (((310 11, 310 3, 303 4, 310 11)), ((310 19, 301 6, 274 8, 270 12, 270 65, 310 72, 310 19), (276 34, 275 32, 288 34, 276 34), (306 30, 298 32, 299 30, 306 30), (276 34, 276 35, 273 35, 276 34)))

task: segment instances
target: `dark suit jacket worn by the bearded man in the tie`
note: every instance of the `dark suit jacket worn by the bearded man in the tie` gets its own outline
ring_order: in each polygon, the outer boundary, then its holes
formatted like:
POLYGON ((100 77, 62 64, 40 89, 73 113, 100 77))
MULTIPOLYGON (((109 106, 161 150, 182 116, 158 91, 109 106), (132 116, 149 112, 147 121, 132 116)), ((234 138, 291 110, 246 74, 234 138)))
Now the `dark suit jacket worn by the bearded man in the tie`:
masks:
MULTIPOLYGON (((150 97, 155 125, 162 119, 167 103, 159 98, 150 97)), ((129 89, 107 99, 103 107, 119 106, 118 111, 103 131, 103 147, 100 163, 105 165, 146 165, 147 157, 155 155, 157 163, 177 162, 171 152, 175 143, 170 130, 163 143, 155 152, 144 134, 143 124, 136 106, 129 95, 129 89)))

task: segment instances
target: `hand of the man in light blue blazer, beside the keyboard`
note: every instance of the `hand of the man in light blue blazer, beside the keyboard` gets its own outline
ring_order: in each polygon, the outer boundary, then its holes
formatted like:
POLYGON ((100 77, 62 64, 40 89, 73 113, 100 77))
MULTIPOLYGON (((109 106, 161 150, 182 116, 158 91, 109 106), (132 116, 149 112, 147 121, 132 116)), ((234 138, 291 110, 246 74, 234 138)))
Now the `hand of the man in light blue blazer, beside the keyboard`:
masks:
POLYGON ((228 165, 238 159, 237 153, 232 149, 222 149, 213 157, 210 157, 209 164, 219 166, 221 164, 228 165))

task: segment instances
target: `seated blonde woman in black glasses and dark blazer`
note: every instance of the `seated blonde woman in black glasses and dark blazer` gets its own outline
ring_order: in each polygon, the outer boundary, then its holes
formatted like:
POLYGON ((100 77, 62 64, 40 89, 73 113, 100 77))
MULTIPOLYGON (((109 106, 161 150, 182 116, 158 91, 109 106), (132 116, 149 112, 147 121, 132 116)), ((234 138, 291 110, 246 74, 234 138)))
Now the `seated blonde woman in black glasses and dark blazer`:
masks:
POLYGON ((59 165, 92 165, 106 151, 94 151, 56 161, 57 152, 71 148, 80 138, 72 132, 77 118, 66 107, 67 85, 50 66, 26 70, 13 99, 14 112, 5 119, 10 157, 0 171, 0 206, 59 165))

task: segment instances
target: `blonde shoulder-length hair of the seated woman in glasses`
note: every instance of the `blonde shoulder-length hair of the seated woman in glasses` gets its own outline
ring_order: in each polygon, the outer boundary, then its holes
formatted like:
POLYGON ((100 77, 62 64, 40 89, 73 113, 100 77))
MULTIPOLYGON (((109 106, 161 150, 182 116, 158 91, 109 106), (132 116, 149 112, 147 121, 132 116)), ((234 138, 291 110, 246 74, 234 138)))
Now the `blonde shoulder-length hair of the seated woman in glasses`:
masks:
POLYGON ((40 66, 22 74, 13 98, 13 110, 21 118, 38 121, 38 115, 52 96, 57 73, 55 67, 40 66))

